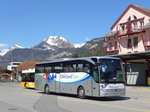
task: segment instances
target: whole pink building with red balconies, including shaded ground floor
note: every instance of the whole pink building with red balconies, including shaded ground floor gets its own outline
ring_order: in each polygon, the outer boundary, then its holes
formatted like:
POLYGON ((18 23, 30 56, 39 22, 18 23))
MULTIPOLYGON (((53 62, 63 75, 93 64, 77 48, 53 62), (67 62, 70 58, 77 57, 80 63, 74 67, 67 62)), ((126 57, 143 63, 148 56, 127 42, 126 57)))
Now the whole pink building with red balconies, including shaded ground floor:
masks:
POLYGON ((129 5, 104 36, 106 54, 124 62, 128 85, 150 85, 150 8, 129 5))

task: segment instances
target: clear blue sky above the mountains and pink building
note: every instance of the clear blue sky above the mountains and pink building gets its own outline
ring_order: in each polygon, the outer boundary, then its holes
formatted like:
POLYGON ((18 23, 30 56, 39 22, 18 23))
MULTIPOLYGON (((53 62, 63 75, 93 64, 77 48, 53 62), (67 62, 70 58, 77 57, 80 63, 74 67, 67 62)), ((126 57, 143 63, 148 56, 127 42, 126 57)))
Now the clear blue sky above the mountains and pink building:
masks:
POLYGON ((0 49, 59 35, 72 43, 102 37, 128 7, 149 0, 0 0, 0 49))

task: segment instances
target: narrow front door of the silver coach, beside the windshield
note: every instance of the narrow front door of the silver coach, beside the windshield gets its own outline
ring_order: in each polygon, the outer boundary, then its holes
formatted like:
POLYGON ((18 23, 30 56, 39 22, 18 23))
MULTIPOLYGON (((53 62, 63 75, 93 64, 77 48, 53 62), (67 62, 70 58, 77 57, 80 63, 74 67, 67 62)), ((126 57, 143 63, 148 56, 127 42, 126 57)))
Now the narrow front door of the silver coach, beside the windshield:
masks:
POLYGON ((92 83, 92 91, 93 91, 93 96, 99 97, 99 72, 98 72, 98 67, 94 66, 92 69, 92 76, 93 76, 93 83, 92 83))

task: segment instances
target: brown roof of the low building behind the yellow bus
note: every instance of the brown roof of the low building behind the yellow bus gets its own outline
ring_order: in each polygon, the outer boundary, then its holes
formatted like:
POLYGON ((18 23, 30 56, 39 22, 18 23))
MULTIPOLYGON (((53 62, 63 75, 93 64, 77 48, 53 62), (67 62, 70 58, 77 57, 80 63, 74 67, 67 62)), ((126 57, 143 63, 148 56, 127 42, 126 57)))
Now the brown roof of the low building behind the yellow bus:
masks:
POLYGON ((40 61, 24 61, 17 67, 17 71, 21 72, 23 70, 33 69, 36 63, 40 63, 40 61))

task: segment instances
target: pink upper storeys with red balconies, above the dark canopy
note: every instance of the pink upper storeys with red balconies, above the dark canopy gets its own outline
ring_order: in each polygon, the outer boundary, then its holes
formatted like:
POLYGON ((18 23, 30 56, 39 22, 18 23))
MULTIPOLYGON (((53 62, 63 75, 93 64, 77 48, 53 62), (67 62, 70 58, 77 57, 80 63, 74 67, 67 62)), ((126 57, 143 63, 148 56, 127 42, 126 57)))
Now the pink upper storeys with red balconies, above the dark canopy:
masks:
POLYGON ((150 50, 150 9, 129 5, 105 35, 105 52, 126 54, 150 50))

